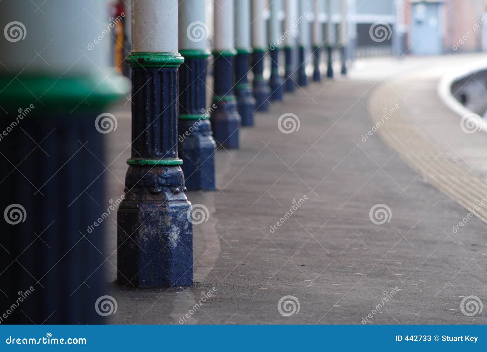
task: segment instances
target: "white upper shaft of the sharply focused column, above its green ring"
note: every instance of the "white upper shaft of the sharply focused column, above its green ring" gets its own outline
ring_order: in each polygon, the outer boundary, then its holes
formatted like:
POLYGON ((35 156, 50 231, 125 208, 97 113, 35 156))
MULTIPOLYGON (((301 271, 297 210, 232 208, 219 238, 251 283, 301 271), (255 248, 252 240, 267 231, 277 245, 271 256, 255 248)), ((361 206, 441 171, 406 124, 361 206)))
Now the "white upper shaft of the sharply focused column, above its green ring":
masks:
POLYGON ((132 0, 132 52, 178 52, 178 0, 132 0))

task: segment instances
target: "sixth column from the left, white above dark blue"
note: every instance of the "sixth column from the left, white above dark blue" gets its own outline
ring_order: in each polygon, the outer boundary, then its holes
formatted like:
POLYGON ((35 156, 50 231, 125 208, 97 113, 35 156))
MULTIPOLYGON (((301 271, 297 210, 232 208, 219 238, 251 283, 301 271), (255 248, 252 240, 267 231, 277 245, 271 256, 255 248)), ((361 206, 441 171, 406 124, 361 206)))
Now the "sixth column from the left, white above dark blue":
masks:
POLYGON ((252 0, 252 71, 254 73, 254 97, 258 111, 269 111, 271 94, 269 82, 264 78, 264 57, 267 52, 264 10, 264 1, 252 0))

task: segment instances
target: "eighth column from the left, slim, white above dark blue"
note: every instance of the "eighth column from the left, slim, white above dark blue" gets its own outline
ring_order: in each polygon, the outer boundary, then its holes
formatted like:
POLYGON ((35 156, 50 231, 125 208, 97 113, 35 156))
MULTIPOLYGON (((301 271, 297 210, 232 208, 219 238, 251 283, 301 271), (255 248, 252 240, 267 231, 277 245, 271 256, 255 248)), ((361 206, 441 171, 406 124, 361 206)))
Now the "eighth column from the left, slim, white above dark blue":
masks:
POLYGON ((286 92, 294 92, 296 83, 293 79, 295 71, 294 47, 296 31, 296 6, 297 0, 284 0, 284 55, 285 55, 285 73, 284 73, 284 88, 286 92))

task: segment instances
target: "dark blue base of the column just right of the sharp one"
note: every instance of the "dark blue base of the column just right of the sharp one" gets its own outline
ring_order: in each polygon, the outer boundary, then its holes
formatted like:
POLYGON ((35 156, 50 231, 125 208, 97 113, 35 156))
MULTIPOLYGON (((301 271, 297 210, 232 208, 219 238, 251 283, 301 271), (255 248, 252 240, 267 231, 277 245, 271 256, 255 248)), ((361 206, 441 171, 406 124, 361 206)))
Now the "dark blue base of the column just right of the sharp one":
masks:
POLYGON ((215 149, 209 120, 179 119, 179 156, 187 190, 215 189, 215 149))

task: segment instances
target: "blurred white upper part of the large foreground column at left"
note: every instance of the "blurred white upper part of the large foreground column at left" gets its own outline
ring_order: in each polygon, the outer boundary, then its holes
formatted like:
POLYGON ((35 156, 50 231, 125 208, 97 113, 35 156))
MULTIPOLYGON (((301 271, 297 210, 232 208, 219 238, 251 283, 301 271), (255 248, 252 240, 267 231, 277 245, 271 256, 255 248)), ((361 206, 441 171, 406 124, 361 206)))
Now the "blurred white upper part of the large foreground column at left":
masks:
POLYGON ((1 72, 99 74, 98 68, 111 66, 112 32, 121 19, 109 19, 106 0, 50 0, 38 5, 40 10, 30 1, 0 2, 1 72))

